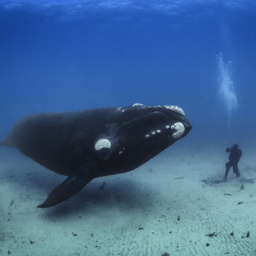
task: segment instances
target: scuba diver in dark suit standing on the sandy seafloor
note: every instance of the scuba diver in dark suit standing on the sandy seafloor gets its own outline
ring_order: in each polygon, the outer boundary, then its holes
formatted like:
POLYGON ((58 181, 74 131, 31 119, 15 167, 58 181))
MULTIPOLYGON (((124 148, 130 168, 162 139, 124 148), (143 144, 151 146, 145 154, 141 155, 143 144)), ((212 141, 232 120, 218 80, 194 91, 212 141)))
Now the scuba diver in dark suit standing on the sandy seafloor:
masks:
POLYGON ((224 176, 224 180, 227 181, 228 172, 231 167, 233 167, 233 172, 236 174, 236 177, 240 177, 240 173, 238 170, 238 162, 241 159, 242 156, 242 150, 239 148, 237 144, 234 144, 232 147, 227 148, 226 152, 230 152, 229 154, 229 161, 226 163, 226 172, 224 176))

